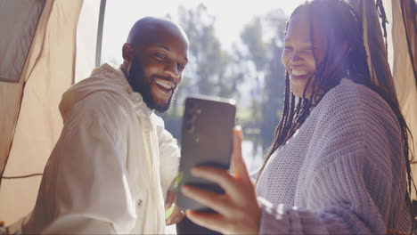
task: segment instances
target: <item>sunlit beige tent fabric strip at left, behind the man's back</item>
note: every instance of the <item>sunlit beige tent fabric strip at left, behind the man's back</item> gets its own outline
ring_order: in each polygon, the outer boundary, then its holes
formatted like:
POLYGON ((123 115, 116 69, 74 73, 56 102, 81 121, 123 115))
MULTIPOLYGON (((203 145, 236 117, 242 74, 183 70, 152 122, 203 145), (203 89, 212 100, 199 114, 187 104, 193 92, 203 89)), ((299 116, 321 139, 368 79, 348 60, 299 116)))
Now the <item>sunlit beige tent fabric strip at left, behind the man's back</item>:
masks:
MULTIPOLYGON (((22 74, 27 81, 4 176, 42 173, 61 133, 58 105, 74 77, 76 32, 82 0, 48 1, 22 74), (44 18, 45 16, 45 18, 44 18), (39 33, 39 35, 38 35, 39 33)), ((6 224, 27 215, 34 206, 41 177, 3 179, 0 218, 6 224)))

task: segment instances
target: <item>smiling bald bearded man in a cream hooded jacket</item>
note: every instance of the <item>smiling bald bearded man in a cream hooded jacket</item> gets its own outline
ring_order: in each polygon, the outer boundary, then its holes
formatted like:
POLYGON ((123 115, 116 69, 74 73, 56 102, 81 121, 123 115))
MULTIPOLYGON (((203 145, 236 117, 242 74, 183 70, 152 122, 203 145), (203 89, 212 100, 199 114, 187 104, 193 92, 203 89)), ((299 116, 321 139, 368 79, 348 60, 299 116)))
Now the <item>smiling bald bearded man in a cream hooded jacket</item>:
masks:
POLYGON ((123 64, 103 64, 60 104, 61 137, 23 233, 161 234, 179 150, 153 110, 168 110, 188 61, 184 30, 143 18, 123 45, 123 64))

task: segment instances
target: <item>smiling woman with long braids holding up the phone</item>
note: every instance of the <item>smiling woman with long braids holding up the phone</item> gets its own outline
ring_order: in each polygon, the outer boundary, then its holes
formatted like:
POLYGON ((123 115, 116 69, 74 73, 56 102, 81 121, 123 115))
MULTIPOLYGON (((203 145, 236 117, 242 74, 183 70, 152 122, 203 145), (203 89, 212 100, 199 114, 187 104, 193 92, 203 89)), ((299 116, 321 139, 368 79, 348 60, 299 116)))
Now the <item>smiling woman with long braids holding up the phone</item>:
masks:
POLYGON ((187 211, 194 223, 246 234, 411 230, 407 127, 396 98, 372 84, 362 30, 353 8, 340 0, 314 0, 291 14, 282 120, 257 184, 235 130, 234 174, 192 169, 225 194, 181 189, 218 212, 187 211))

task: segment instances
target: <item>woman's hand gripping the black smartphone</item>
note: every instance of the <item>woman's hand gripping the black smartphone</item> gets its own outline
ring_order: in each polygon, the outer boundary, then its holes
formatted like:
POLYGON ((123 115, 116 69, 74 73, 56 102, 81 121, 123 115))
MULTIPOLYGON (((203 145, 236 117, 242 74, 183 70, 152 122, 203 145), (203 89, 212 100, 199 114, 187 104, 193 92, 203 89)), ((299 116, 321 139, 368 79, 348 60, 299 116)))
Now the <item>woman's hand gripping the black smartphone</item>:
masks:
POLYGON ((245 163, 241 156, 241 127, 233 130, 233 169, 234 175, 226 170, 210 166, 192 168, 192 175, 217 182, 225 194, 184 185, 181 190, 190 197, 218 214, 206 214, 187 210, 192 222, 213 231, 222 233, 258 234, 260 208, 245 163))

